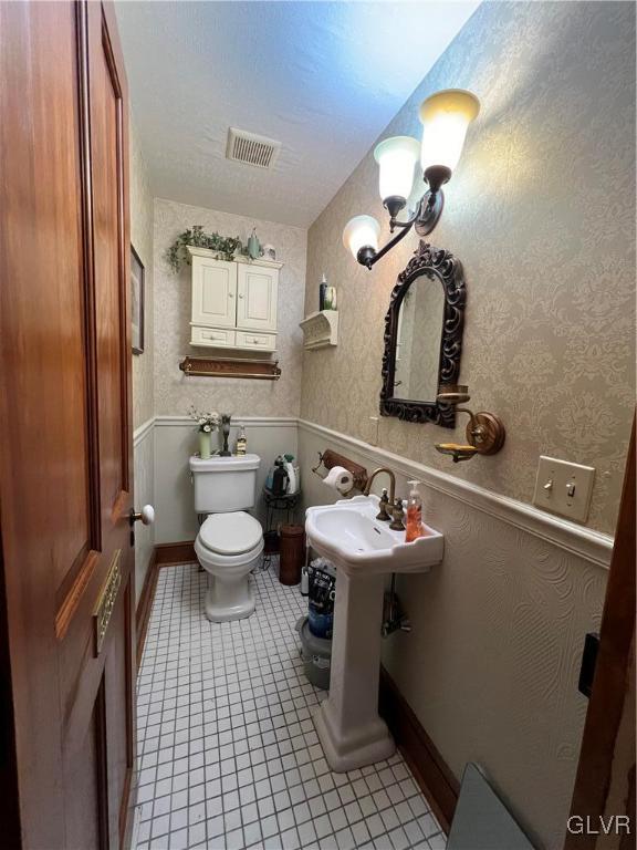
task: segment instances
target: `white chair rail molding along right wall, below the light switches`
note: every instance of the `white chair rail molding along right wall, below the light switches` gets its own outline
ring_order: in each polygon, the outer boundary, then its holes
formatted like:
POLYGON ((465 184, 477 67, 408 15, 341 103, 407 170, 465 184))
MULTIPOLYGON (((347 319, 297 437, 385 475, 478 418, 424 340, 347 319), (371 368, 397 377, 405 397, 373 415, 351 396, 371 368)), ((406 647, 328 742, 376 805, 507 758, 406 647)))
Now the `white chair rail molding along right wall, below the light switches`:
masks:
POLYGON ((613 553, 613 537, 610 535, 604 535, 591 528, 577 526, 566 519, 545 514, 532 505, 525 505, 509 496, 492 493, 471 481, 438 471, 416 460, 409 460, 401 455, 395 455, 384 448, 372 446, 369 443, 332 431, 323 425, 299 419, 299 429, 326 438, 341 448, 355 450, 373 465, 389 466, 394 471, 405 475, 408 479, 417 478, 434 490, 443 493, 464 505, 546 540, 591 563, 606 570, 610 564, 613 553))

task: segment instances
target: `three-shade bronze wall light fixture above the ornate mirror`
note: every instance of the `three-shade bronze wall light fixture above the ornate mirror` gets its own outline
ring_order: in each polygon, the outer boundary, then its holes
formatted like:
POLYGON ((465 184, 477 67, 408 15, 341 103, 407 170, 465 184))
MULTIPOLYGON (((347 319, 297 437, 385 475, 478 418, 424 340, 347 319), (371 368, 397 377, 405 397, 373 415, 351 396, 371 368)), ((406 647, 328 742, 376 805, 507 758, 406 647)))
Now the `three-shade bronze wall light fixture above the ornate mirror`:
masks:
POLYGON ((419 236, 430 234, 442 212, 442 186, 449 182, 458 165, 467 128, 480 112, 480 101, 471 92, 447 89, 427 97, 420 105, 422 143, 410 136, 394 136, 380 142, 374 151, 378 163, 383 206, 389 212, 389 231, 400 229, 378 250, 380 227, 372 216, 356 216, 345 226, 343 241, 359 263, 368 269, 415 228, 419 236), (414 183, 414 165, 420 153, 422 176, 428 190, 422 195, 413 216, 399 221, 396 216, 406 206, 414 183), (366 231, 363 228, 366 222, 366 231), (373 222, 373 225, 372 225, 373 222), (362 241, 365 232, 372 237, 362 241), (355 235, 355 238, 354 238, 355 235))

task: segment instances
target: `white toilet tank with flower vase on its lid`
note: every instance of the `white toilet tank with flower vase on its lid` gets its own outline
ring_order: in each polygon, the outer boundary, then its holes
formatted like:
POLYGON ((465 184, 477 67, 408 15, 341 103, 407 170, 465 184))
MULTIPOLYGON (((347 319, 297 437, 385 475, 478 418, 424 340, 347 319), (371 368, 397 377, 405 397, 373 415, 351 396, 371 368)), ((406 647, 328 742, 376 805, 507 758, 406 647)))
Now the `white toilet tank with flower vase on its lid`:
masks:
POLYGON ((190 458, 197 514, 228 514, 254 505, 259 455, 190 458))

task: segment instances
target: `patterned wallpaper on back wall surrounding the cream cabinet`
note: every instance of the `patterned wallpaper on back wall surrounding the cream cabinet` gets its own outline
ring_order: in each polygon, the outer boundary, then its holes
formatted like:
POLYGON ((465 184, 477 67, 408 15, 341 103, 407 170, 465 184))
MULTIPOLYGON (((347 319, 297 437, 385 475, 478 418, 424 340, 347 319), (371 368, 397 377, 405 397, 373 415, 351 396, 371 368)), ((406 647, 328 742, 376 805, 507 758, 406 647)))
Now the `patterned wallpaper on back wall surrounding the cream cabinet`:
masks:
MULTIPOLYGON (((155 414, 182 415, 188 407, 213 408, 237 416, 297 416, 301 400, 305 251, 307 232, 301 228, 155 199, 155 414), (190 346, 190 267, 174 274, 164 255, 175 238, 192 225, 243 242, 257 228, 262 245, 276 249, 284 263, 279 277, 279 381, 185 377, 179 361, 187 354, 205 356, 190 346)), ((226 353, 226 356, 229 356, 226 353)))

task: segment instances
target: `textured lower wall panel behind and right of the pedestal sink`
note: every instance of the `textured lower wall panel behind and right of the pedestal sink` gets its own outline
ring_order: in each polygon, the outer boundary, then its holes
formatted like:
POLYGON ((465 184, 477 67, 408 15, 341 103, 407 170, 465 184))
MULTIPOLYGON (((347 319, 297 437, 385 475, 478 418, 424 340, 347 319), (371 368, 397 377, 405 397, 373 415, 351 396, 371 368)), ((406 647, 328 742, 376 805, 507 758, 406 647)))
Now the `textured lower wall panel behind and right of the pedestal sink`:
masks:
MULTIPOLYGON (((301 422, 306 504, 336 499, 311 471, 326 448, 368 471, 389 466, 400 497, 408 478, 424 480, 424 515, 445 533, 445 559, 398 577, 413 631, 384 642, 383 664, 456 779, 467 761, 481 764, 532 840, 556 850, 586 713, 581 653, 599 626, 612 538, 474 485, 453 489, 449 476, 301 422)), ((374 489, 384 486, 379 476, 374 489)))

